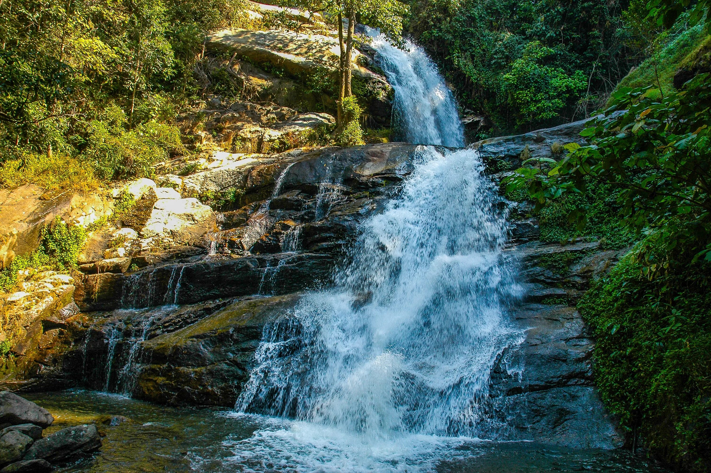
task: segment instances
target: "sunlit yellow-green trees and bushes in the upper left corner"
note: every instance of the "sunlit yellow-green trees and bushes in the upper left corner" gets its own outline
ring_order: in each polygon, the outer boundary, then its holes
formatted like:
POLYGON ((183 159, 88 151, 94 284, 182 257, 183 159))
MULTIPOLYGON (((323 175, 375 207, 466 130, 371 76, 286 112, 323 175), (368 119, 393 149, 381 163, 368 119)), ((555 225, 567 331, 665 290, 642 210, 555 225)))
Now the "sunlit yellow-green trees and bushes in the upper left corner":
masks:
POLYGON ((244 21, 240 0, 13 0, 0 17, 0 161, 88 149, 104 178, 175 151, 161 127, 198 90, 206 33, 244 21))

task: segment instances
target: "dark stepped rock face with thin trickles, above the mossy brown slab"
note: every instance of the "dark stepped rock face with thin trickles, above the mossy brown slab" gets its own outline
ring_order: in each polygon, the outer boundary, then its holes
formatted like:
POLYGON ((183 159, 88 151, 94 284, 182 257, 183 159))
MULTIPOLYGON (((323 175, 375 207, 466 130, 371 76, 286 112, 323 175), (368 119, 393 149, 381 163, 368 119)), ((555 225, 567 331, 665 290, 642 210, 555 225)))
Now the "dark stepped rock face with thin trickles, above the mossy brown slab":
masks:
MULTIPOLYGON (((269 196, 277 180, 279 195, 223 215, 222 229, 199 243, 213 255, 151 266, 168 260, 156 256, 136 272, 89 274, 77 283, 75 301, 85 311, 111 310, 287 294, 326 284, 358 223, 377 211, 392 184, 412 170, 420 149, 395 143, 326 148, 245 164, 235 171, 237 181, 245 182, 245 196, 269 196), (232 220, 237 214, 242 218, 232 220)), ((148 262, 148 255, 141 257, 148 262)))

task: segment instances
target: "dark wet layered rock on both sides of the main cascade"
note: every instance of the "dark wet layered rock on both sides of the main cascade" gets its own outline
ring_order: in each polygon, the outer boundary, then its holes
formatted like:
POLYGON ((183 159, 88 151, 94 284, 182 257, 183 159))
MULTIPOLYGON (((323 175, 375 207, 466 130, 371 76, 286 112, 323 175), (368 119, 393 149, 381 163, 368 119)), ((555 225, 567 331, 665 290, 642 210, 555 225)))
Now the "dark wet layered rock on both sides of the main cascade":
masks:
MULTIPOLYGON (((475 147, 496 174, 526 147, 555 154, 551 145, 569 142, 576 129, 582 122, 475 147)), ((278 323, 301 291, 328 285, 359 223, 397 194, 420 149, 393 143, 299 150, 232 167, 229 178, 223 169, 220 179, 230 179, 244 198, 240 208, 215 213, 213 230, 169 250, 124 245, 130 271, 88 271, 75 281, 82 312, 54 317, 53 346, 26 351, 28 368, 0 386, 87 386, 159 403, 231 407, 264 326, 278 323)), ((620 445, 594 388, 594 345, 574 305, 624 250, 603 250, 594 240, 541 243, 535 219, 518 218, 507 251, 528 285, 512 310, 525 338, 491 372, 491 422, 502 438, 620 445), (565 264, 550 265, 555 257, 565 264)))

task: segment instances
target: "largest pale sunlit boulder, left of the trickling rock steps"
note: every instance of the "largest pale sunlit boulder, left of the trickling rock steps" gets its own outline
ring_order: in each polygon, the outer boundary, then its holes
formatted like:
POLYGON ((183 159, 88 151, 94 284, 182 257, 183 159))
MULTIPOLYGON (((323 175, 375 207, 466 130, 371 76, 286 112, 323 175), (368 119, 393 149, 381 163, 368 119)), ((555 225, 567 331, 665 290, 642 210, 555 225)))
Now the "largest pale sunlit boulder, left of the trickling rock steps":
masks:
POLYGON ((215 228, 215 213, 196 198, 161 198, 140 234, 188 243, 215 228))

